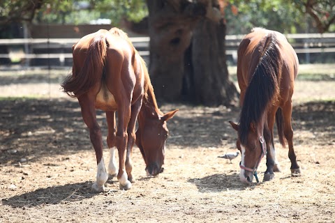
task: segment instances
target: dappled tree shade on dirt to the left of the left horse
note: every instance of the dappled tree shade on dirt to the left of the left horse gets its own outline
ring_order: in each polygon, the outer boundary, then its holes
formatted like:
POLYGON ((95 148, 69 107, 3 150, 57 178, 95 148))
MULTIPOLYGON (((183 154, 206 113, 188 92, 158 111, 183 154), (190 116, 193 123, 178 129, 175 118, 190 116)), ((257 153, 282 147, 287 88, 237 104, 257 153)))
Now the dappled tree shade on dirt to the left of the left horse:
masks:
MULTIPOLYGON (((102 114, 97 111, 97 119, 106 135, 102 114)), ((0 100, 0 134, 0 164, 92 149, 75 100, 0 100)))

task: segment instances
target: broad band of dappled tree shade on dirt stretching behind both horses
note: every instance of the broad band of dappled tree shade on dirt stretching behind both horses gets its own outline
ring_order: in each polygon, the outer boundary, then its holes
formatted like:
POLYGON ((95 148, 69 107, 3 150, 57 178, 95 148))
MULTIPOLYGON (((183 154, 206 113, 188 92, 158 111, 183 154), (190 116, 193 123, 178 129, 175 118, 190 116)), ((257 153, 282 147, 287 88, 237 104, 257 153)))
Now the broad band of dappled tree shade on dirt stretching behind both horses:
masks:
MULTIPOLYGON (((163 105, 163 110, 172 107, 180 110, 168 122, 170 146, 208 148, 225 141, 235 148, 237 134, 228 121, 238 120, 238 107, 163 105)), ((295 132, 313 132, 315 144, 335 143, 335 101, 297 105, 292 117, 295 132)), ((97 118, 105 142, 105 114, 98 111, 97 118)), ((36 162, 45 156, 93 149, 76 100, 0 100, 0 135, 0 165, 17 163, 28 155, 29 162, 36 162)))

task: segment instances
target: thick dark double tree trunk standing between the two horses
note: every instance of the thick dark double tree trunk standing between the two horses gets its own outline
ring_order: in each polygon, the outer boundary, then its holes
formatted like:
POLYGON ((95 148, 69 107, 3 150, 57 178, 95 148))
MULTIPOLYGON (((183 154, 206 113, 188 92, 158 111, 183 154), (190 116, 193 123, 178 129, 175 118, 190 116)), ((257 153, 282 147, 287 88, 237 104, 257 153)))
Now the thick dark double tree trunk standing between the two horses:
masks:
POLYGON ((212 20, 219 10, 212 10, 211 1, 147 0, 147 6, 149 74, 158 100, 202 105, 237 100, 225 63, 225 24, 212 20))

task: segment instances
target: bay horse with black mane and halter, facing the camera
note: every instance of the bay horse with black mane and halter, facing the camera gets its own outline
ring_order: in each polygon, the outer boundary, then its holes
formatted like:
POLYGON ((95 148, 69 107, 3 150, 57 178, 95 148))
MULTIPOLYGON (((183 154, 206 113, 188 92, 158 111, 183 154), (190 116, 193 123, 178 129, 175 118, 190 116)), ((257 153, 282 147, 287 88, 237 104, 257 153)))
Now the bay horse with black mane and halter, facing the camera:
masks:
POLYGON ((300 174, 293 148, 291 125, 292 94, 299 61, 297 54, 283 34, 255 28, 241 40, 237 51, 237 79, 241 89, 241 114, 237 130, 237 148, 241 151, 241 172, 244 183, 258 181, 257 168, 267 155, 264 181, 274 178, 280 171, 274 150, 274 123, 276 121, 280 143, 288 141, 291 174, 300 174))

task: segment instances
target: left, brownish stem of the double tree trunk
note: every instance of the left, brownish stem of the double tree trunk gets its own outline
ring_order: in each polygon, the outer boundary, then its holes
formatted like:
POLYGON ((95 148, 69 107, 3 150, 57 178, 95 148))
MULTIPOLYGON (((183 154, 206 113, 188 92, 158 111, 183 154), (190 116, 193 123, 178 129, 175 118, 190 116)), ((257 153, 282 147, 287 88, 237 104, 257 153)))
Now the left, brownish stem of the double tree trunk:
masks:
POLYGON ((181 1, 147 1, 149 9, 149 73, 158 99, 180 99, 184 77, 184 52, 203 5, 181 1))

